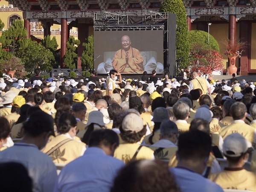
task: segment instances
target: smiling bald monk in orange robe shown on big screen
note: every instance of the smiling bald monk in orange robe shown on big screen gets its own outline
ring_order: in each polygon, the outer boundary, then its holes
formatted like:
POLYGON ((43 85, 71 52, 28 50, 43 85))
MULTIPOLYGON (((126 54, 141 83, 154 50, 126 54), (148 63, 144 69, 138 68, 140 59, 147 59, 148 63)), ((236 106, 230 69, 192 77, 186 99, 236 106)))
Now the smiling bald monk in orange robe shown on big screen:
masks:
POLYGON ((143 57, 138 49, 131 47, 128 35, 122 36, 122 49, 116 51, 113 68, 119 73, 143 73, 143 57))

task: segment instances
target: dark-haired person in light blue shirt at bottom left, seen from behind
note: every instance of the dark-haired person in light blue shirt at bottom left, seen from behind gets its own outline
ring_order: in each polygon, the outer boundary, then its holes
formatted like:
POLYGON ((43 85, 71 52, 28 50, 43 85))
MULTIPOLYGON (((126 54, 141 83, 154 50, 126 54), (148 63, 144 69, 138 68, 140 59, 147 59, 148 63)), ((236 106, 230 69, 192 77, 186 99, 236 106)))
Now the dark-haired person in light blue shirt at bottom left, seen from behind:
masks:
POLYGON ((49 156, 39 151, 46 145, 49 136, 54 135, 53 119, 43 111, 32 113, 23 124, 25 136, 20 143, 0 152, 0 163, 23 164, 33 180, 34 192, 53 191, 57 170, 49 156))

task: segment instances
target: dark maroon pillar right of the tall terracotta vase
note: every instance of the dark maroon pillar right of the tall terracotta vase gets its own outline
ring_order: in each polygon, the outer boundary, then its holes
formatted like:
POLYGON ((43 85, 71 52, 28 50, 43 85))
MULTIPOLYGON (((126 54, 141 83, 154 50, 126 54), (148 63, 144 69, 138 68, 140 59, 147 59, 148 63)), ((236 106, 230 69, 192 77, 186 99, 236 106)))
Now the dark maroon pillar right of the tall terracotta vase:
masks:
POLYGON ((240 41, 247 42, 247 47, 244 48, 244 52, 242 52, 240 58, 239 75, 247 76, 248 70, 250 70, 252 23, 249 20, 241 20, 239 25, 239 31, 239 38, 241 39, 240 41))

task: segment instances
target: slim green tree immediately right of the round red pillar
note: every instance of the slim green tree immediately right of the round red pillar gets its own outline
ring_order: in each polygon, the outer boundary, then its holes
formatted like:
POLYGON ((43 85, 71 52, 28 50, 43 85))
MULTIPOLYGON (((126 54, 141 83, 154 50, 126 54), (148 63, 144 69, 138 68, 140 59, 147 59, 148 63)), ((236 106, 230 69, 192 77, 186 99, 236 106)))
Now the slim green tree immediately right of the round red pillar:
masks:
POLYGON ((64 55, 64 63, 66 68, 70 68, 70 70, 76 69, 77 47, 79 44, 79 39, 75 39, 73 36, 70 36, 70 38, 67 40, 67 49, 66 54, 64 55))

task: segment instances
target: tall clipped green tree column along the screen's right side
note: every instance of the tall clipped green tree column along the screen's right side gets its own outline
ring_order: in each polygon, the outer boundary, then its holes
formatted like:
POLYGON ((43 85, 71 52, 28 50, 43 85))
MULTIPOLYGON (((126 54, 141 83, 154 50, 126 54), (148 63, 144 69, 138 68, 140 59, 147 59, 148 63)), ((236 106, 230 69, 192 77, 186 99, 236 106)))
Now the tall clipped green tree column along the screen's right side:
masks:
POLYGON ((186 9, 182 0, 165 0, 160 12, 176 14, 176 58, 180 59, 180 67, 186 68, 189 58, 188 27, 186 23, 186 9))

